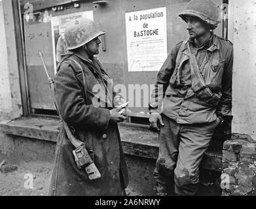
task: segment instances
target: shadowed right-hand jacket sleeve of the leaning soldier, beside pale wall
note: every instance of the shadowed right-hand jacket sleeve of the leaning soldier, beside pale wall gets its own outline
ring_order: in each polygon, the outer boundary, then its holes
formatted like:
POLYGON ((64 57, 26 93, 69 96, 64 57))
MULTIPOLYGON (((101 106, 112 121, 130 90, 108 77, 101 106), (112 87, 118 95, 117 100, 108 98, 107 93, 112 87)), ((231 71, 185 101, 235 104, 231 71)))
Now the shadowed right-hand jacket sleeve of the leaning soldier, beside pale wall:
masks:
POLYGON ((232 120, 232 71, 233 71, 233 47, 230 45, 228 58, 225 61, 223 80, 222 80, 222 97, 217 106, 217 116, 222 120, 232 120))

